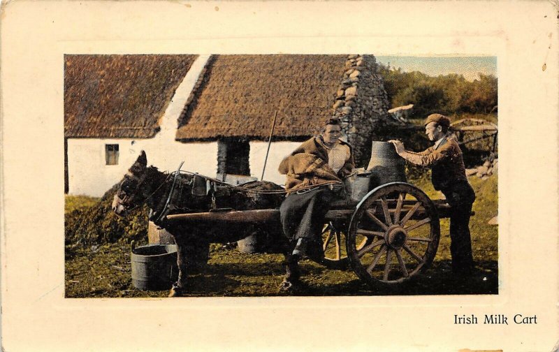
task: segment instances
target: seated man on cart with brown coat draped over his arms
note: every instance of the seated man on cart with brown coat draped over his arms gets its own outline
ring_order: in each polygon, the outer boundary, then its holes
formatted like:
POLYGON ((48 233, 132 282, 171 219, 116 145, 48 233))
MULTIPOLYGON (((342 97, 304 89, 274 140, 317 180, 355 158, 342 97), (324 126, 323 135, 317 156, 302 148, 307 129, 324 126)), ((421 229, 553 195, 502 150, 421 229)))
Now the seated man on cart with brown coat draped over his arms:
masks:
POLYGON ((295 262, 303 256, 324 257, 324 216, 342 189, 342 179, 354 168, 351 146, 340 136, 340 121, 328 119, 321 135, 303 142, 279 164, 287 191, 279 211, 295 262))

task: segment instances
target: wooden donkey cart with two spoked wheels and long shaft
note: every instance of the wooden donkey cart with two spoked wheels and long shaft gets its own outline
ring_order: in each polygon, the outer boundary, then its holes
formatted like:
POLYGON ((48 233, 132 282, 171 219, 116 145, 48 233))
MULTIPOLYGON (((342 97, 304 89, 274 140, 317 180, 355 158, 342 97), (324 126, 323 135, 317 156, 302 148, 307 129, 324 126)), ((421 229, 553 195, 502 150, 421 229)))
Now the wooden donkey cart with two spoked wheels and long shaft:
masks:
MULTIPOLYGON (((315 261, 330 269, 351 267, 370 286, 400 284, 433 262, 439 221, 449 216, 444 200, 430 200, 412 184, 383 184, 360 201, 333 203, 322 232, 324 259, 315 261)), ((170 214, 166 221, 281 226, 278 209, 170 214)))

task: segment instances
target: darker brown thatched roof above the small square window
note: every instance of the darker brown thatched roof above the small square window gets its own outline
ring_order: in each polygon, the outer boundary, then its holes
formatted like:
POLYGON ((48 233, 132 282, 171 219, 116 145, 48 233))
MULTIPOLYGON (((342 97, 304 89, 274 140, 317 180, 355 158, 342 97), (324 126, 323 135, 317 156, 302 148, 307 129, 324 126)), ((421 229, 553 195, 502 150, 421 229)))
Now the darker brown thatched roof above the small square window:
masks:
POLYGON ((66 55, 66 138, 150 138, 197 55, 66 55))

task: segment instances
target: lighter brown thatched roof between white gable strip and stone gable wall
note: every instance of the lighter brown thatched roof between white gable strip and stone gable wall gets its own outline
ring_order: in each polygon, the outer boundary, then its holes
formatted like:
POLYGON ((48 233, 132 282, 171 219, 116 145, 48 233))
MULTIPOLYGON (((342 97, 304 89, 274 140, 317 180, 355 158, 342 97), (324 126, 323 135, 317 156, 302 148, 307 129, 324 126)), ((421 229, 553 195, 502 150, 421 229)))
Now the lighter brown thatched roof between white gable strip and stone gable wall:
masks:
POLYGON ((179 120, 177 140, 307 138, 333 114, 347 55, 215 55, 179 120))

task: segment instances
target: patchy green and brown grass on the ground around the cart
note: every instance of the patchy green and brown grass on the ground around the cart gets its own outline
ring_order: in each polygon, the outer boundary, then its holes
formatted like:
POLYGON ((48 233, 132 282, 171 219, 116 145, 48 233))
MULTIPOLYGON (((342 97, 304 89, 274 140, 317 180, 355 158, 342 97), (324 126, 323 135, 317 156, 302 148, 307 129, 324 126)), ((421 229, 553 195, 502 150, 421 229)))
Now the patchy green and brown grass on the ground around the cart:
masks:
MULTIPOLYGON (((497 175, 471 177, 477 194, 476 213, 470 221, 472 247, 478 270, 472 277, 451 273, 449 220, 441 220, 441 239, 433 265, 406 284, 371 288, 351 270, 328 270, 312 261, 301 261, 304 288, 299 295, 432 295, 498 293, 498 226, 487 221, 497 215, 497 175)), ((410 183, 432 199, 442 198, 428 175, 410 183)), ((66 197, 66 210, 87 207, 94 199, 66 197), (80 205, 84 203, 84 205, 80 205)), ((189 276, 189 296, 274 296, 284 275, 280 254, 242 254, 221 244, 210 247, 210 261, 200 273, 189 276)), ((66 297, 119 298, 166 297, 168 291, 140 291, 131 284, 130 244, 69 245, 66 247, 66 297), (71 248, 71 250, 70 250, 71 248)))

